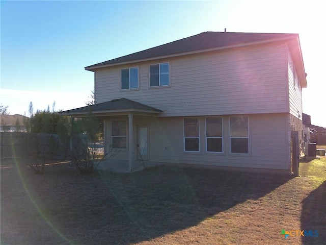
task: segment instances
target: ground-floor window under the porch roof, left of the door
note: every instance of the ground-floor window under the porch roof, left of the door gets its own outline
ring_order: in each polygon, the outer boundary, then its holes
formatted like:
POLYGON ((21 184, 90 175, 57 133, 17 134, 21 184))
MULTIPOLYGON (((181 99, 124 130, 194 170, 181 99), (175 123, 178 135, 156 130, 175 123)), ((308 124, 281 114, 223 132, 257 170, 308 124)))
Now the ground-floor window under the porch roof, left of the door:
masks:
POLYGON ((127 149, 127 121, 111 121, 112 149, 127 149))

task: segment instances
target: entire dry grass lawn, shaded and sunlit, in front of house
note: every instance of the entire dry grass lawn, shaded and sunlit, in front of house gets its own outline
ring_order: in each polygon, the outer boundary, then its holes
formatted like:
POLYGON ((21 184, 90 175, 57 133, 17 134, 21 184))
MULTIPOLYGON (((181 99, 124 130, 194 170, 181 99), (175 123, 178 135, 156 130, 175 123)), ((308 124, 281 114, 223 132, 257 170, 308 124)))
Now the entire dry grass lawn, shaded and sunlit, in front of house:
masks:
POLYGON ((35 175, 1 161, 1 244, 325 244, 326 157, 300 177, 157 167, 35 175), (318 230, 318 237, 282 229, 318 230))

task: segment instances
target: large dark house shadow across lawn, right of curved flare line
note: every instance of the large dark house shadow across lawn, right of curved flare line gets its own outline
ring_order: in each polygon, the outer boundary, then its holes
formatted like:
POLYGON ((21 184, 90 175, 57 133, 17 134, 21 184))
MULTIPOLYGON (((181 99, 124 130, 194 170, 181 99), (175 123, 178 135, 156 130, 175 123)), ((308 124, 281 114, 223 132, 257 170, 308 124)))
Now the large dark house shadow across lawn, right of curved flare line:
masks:
POLYGON ((133 174, 76 173, 67 165, 52 165, 42 176, 26 174, 26 185, 42 216, 67 238, 67 244, 150 240, 257 200, 290 179, 178 167, 133 174))

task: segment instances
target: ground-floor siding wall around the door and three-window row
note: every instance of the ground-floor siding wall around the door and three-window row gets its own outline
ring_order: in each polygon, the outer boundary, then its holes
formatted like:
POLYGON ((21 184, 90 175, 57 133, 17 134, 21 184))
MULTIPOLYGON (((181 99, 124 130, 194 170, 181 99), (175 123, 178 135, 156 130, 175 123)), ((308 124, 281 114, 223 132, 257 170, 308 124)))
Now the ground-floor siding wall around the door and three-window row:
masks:
MULTIPOLYGON (((205 116, 199 116, 200 152, 184 152, 184 117, 134 116, 134 160, 137 158, 137 127, 148 126, 148 160, 157 163, 196 164, 223 167, 251 167, 288 170, 288 114, 251 114, 249 116, 249 154, 230 153, 230 115, 223 116, 223 153, 206 152, 205 116)), ((111 120, 106 119, 106 142, 111 142, 111 120)), ((112 159, 127 160, 127 150, 118 150, 112 159)))

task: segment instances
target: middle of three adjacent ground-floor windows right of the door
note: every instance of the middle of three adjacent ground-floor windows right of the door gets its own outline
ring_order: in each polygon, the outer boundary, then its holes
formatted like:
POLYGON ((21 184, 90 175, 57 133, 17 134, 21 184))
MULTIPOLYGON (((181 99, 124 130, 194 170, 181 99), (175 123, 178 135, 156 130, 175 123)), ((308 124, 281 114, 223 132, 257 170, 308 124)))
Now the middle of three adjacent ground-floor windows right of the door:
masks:
POLYGON ((223 119, 206 117, 206 151, 223 152, 223 119))

